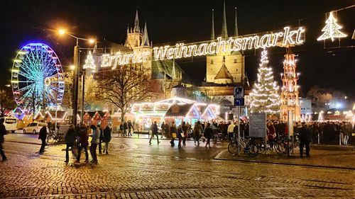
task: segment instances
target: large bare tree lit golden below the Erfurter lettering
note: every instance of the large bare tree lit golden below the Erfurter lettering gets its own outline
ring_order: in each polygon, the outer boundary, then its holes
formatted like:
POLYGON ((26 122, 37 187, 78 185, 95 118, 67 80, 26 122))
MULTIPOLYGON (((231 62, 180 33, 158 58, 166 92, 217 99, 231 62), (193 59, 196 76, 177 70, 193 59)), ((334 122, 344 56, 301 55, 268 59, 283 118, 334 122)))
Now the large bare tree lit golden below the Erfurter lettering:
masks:
POLYGON ((151 76, 140 67, 124 66, 97 73, 97 98, 121 110, 121 122, 133 103, 149 101, 154 93, 151 76))

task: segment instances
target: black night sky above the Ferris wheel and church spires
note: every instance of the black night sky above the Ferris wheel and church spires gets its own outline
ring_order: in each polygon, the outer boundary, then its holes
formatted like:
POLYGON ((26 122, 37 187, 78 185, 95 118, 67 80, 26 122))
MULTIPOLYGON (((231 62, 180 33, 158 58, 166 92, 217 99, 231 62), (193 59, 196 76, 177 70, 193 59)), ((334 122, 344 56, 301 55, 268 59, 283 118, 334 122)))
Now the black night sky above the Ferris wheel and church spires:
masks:
MULTIPOLYGON (((348 38, 340 42, 317 42, 324 27, 324 13, 351 6, 355 1, 231 1, 226 0, 226 17, 229 35, 234 33, 234 7, 238 9, 239 35, 282 29, 286 25, 306 27, 305 45, 293 48, 298 55, 297 69, 301 73, 299 84, 305 94, 318 85, 325 89, 344 91, 355 97, 355 8, 337 12, 338 23, 348 38)), ((211 10, 214 8, 215 33, 222 27, 223 1, 0 1, 0 63, 1 86, 9 84, 11 67, 16 50, 27 42, 44 42, 55 50, 62 65, 72 62, 75 40, 60 38, 54 30, 65 27, 82 37, 97 36, 98 40, 124 43, 127 25, 133 26, 138 8, 141 28, 148 25, 149 39, 153 45, 176 42, 209 40, 211 10)), ((82 47, 87 46, 81 42, 82 47)), ((275 79, 280 82, 285 48, 269 49, 269 60, 275 79)), ((251 83, 256 79, 256 69, 261 50, 246 51, 246 73, 251 83)), ((178 60, 191 79, 199 83, 205 75, 205 57, 178 60)))

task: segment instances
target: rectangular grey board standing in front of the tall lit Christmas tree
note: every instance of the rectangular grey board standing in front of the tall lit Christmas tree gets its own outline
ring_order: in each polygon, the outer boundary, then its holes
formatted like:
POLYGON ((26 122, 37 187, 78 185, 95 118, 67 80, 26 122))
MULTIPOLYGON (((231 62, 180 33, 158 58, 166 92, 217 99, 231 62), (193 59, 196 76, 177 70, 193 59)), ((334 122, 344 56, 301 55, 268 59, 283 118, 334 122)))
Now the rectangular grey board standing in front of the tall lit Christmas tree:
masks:
POLYGON ((250 137, 266 136, 266 113, 251 113, 249 136, 250 137))

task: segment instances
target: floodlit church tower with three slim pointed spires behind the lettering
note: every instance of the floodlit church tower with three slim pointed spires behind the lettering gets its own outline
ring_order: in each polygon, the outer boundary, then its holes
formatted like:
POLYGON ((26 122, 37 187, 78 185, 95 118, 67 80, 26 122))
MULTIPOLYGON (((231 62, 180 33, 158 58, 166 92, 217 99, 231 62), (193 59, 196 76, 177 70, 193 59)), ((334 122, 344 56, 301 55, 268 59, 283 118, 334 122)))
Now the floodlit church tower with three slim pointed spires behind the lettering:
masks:
MULTIPOLYGON (((223 16, 222 16, 222 30, 221 35, 224 40, 228 39, 228 30, 226 25, 226 3, 223 4, 223 16)), ((234 35, 232 37, 238 37, 238 23, 234 19, 234 35)), ((212 30, 211 40, 216 40, 214 37, 214 10, 212 10, 212 30)), ((206 56, 206 79, 207 83, 214 84, 244 84, 244 55, 241 52, 222 52, 215 55, 206 56), (225 74, 222 76, 222 74, 225 74), (223 80, 222 80, 223 79, 223 80), (230 79, 230 81, 229 81, 230 79)))

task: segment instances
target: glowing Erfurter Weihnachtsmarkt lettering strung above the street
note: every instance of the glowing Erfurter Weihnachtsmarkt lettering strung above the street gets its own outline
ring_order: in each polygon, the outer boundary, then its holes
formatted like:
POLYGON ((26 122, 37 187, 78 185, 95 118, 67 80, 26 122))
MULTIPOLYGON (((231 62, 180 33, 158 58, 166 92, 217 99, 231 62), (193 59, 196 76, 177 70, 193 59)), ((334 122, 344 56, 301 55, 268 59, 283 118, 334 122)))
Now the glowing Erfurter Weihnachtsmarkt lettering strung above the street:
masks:
POLYGON ((241 35, 238 37, 222 38, 205 42, 194 42, 190 44, 176 43, 153 47, 152 50, 142 49, 134 52, 115 52, 102 55, 101 67, 111 67, 129 63, 143 63, 152 56, 153 60, 179 59, 183 57, 196 57, 214 55, 220 52, 236 52, 266 47, 288 47, 302 45, 305 42, 305 28, 284 27, 283 30, 274 30, 263 34, 241 35))

